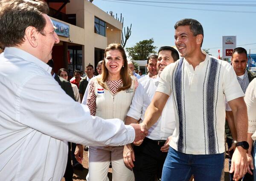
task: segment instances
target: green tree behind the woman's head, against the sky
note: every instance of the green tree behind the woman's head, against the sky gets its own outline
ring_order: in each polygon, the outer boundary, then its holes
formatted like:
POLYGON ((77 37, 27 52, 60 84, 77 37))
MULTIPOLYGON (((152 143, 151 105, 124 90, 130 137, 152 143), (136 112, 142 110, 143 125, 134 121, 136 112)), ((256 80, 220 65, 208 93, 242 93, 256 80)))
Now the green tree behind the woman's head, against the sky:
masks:
POLYGON ((154 50, 157 48, 154 44, 154 39, 142 40, 136 43, 133 47, 126 48, 128 57, 131 60, 146 60, 151 53, 156 53, 154 50))

